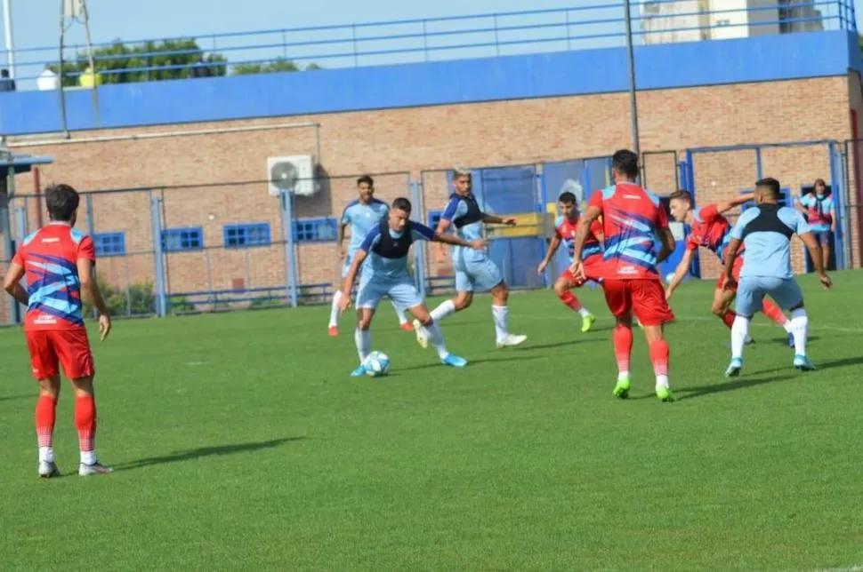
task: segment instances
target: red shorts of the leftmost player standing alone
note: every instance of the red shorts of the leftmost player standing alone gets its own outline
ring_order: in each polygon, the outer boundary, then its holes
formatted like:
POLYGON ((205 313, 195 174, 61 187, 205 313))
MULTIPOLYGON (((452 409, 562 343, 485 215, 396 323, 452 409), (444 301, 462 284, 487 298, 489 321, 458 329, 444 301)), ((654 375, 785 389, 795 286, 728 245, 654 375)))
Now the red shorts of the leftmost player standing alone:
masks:
POLYGON ((69 379, 92 377, 93 352, 87 330, 30 330, 25 332, 30 350, 33 377, 37 380, 51 379, 63 373, 69 379))

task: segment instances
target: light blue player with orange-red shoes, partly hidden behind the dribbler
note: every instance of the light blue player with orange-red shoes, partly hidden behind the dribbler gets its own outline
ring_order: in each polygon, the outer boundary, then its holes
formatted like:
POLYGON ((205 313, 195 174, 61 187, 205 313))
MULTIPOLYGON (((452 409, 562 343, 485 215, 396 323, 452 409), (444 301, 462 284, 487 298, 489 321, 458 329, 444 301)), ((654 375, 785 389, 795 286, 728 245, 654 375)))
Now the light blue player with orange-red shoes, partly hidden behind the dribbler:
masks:
MULTIPOLYGON (((342 220, 339 223, 339 235, 336 239, 339 247, 339 259, 343 260, 342 278, 348 275, 348 270, 351 268, 351 262, 357 255, 359 246, 368 232, 385 218, 390 207, 386 203, 375 199, 375 179, 368 175, 363 175, 357 179, 357 191, 359 198, 356 201, 351 201, 348 206, 344 207, 342 220), (344 251, 344 228, 351 226, 351 242, 348 245, 348 251, 344 251)), ((339 318, 339 302, 342 299, 342 290, 335 290, 333 295, 333 306, 329 314, 328 333, 334 337, 339 335, 338 318, 339 318)), ((410 323, 407 322, 405 313, 399 310, 395 302, 391 300, 392 307, 396 310, 396 315, 399 316, 400 328, 405 331, 414 331, 410 323)))

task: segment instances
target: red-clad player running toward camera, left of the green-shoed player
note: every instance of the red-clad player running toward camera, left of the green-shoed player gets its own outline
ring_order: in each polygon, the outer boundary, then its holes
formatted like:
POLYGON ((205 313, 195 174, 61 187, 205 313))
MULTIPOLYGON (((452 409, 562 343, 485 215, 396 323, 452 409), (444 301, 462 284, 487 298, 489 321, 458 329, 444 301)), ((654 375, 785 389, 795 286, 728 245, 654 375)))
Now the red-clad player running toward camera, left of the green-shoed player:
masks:
MULTIPOLYGON (((554 223, 554 236, 552 242, 548 246, 548 252, 545 253, 545 258, 539 263, 536 272, 543 274, 545 267, 552 261, 552 257, 561 246, 561 242, 566 243, 569 250, 569 263, 572 264, 572 250, 576 242, 576 227, 578 224, 578 209, 576 206, 576 195, 572 193, 563 193, 558 198, 558 206, 561 209, 561 216, 554 223)), ((599 220, 594 220, 591 226, 591 233, 585 241, 585 265, 593 266, 596 263, 601 263, 602 260, 602 225, 599 220)), ((564 270, 556 282, 554 282, 554 293, 558 298, 561 298, 566 306, 581 314, 581 331, 587 332, 593 327, 593 322, 596 318, 588 312, 585 306, 581 305, 575 294, 570 292, 573 288, 580 288, 585 284, 584 280, 578 279, 569 270, 569 266, 564 270)))

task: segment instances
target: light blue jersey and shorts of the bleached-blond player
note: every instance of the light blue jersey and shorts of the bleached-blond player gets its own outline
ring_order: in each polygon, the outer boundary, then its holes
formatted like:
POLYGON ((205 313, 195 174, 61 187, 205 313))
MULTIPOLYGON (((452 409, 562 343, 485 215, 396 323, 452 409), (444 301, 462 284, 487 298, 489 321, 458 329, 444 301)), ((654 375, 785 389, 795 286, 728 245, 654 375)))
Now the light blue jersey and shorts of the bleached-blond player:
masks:
MULTIPOLYGON (((452 223, 459 238, 467 242, 482 238, 482 211, 473 195, 450 195, 440 218, 452 223)), ((491 290, 504 282, 500 268, 482 250, 455 246, 452 258, 458 292, 491 290)))

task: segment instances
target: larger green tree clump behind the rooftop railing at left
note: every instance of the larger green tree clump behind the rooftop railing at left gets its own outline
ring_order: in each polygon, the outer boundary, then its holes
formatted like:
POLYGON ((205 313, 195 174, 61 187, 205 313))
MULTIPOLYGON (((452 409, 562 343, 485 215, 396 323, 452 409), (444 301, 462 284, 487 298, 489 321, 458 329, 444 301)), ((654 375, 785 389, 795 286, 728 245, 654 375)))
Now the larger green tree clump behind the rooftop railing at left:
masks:
MULTIPOLYGON (((103 73, 101 83, 134 83, 153 82, 165 79, 181 79, 184 77, 225 75, 228 72, 227 59, 219 53, 206 56, 193 39, 164 40, 162 42, 147 42, 129 47, 119 38, 109 46, 93 50, 96 70, 106 72, 111 70, 131 69, 119 73, 103 73), (192 67, 194 64, 206 66, 192 67), (173 68, 182 66, 182 68, 173 68), (153 69, 172 67, 169 69, 153 69), (147 69, 145 69, 147 68, 147 69)), ((90 66, 86 52, 79 52, 75 61, 63 64, 63 85, 77 85, 77 75, 69 74, 83 72, 90 66)), ((57 73, 57 67, 51 66, 57 73)))

